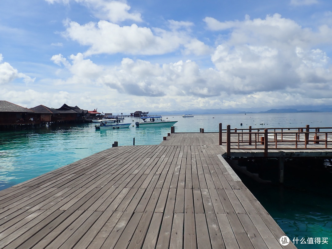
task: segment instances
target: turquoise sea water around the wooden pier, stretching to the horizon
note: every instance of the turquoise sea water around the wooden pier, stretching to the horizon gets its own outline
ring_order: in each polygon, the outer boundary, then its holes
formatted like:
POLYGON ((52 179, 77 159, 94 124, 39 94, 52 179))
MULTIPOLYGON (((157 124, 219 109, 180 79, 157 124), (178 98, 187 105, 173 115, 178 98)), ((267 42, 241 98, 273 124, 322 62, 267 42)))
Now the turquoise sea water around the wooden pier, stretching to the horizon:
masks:
MULTIPOLYGON (((175 132, 199 132, 200 128, 205 132, 217 132, 219 123, 223 128, 227 124, 232 128, 248 128, 249 125, 253 128, 304 127, 306 124, 311 127, 332 126, 332 113, 195 115, 194 118, 163 116, 164 120, 166 118, 178 121, 174 125, 175 132), (261 122, 265 125, 260 125, 261 122)), ((126 118, 126 122, 134 124, 131 118, 126 118)), ((114 141, 118 141, 119 146, 132 145, 133 138, 135 145, 159 144, 169 132, 170 127, 132 126, 100 131, 95 130, 93 123, 1 131, 0 190, 110 148, 114 141)), ((332 173, 326 170, 312 174, 310 168, 290 171, 294 171, 294 175, 302 172, 299 177, 302 181, 283 190, 243 180, 290 239, 328 237, 331 240, 328 244, 297 244, 298 248, 332 248, 332 173), (320 182, 319 187, 317 182, 320 182), (302 185, 311 188, 306 189, 302 185)), ((290 175, 285 168, 285 178, 290 175)))

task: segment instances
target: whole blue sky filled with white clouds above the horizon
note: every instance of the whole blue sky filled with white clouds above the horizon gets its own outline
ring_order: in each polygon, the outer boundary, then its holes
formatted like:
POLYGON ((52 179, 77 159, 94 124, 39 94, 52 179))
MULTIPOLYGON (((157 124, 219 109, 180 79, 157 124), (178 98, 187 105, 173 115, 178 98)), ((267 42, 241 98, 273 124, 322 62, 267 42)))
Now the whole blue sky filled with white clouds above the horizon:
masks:
POLYGON ((1 0, 0 99, 113 113, 332 105, 327 0, 1 0))

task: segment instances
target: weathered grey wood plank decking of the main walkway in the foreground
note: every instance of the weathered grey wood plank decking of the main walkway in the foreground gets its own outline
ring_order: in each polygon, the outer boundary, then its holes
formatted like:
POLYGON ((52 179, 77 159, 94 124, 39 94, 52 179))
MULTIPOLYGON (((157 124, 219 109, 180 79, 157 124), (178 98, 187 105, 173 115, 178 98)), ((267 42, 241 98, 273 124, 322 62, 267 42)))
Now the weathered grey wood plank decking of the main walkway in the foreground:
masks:
POLYGON ((283 248, 217 144, 218 133, 175 133, 5 189, 0 248, 283 248))

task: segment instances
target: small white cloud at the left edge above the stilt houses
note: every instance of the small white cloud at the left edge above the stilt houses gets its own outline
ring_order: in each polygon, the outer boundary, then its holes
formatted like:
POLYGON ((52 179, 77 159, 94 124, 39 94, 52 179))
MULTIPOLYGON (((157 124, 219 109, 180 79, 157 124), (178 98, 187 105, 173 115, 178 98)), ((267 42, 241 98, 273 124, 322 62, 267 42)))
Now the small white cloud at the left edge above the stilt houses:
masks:
POLYGON ((0 53, 0 85, 9 84, 18 78, 22 78, 25 83, 30 83, 35 80, 24 73, 18 72, 18 70, 13 68, 8 62, 1 63, 2 61, 3 56, 0 53))

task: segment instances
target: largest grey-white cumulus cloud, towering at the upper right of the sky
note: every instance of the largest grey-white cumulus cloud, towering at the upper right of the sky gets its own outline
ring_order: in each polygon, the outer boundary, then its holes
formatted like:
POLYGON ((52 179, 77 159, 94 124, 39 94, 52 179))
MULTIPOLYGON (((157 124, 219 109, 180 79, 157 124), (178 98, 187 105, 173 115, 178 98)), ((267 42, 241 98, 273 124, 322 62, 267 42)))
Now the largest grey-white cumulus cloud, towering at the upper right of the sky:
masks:
POLYGON ((304 85, 315 89, 319 84, 330 88, 330 58, 314 48, 330 42, 331 35, 324 31, 329 27, 314 32, 279 14, 224 23, 213 18, 204 21, 210 30, 229 30, 229 38, 211 56, 217 71, 229 82, 224 88, 227 92, 287 92, 304 85))

